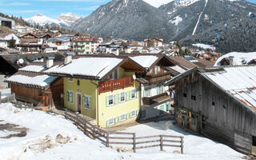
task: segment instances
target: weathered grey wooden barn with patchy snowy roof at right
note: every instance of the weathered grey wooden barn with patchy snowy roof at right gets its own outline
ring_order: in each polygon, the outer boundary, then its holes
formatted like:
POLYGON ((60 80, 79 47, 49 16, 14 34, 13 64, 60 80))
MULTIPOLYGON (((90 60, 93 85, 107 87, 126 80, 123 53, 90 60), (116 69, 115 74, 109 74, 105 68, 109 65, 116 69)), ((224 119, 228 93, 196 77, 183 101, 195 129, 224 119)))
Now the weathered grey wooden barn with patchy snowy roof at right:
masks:
POLYGON ((190 69, 166 85, 174 90, 179 126, 256 154, 256 66, 190 69))

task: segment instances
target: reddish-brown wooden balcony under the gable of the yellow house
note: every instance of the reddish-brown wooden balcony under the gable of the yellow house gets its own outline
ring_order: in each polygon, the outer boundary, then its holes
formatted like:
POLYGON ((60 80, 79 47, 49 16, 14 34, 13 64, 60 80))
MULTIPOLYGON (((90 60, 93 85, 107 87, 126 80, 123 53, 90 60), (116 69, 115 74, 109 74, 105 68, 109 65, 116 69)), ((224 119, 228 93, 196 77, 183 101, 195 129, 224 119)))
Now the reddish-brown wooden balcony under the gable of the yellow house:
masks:
POLYGON ((99 94, 102 94, 105 92, 112 92, 113 90, 124 89, 130 86, 134 86, 133 78, 121 78, 100 83, 98 86, 98 92, 99 94))

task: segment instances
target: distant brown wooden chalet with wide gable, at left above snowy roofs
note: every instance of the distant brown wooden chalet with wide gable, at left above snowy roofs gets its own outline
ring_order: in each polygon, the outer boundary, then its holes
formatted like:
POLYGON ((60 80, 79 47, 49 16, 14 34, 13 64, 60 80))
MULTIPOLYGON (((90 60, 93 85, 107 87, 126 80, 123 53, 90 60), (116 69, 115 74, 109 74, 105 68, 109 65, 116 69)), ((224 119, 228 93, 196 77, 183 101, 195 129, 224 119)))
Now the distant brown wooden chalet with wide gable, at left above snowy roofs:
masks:
POLYGON ((17 39, 15 45, 18 50, 26 53, 39 53, 42 51, 43 39, 38 38, 34 34, 22 35, 20 39, 17 39))

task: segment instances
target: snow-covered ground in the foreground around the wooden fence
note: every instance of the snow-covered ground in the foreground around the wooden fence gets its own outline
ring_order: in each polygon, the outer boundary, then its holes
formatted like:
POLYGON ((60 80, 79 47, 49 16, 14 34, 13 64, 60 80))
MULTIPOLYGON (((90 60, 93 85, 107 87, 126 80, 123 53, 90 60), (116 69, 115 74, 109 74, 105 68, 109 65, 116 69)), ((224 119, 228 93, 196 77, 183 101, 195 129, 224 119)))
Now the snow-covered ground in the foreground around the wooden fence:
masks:
POLYGON ((130 127, 125 131, 135 132, 138 136, 182 135, 185 154, 173 153, 177 149, 171 147, 164 147, 166 151, 159 151, 157 147, 137 150, 137 153, 118 152, 86 137, 63 116, 46 114, 39 110, 33 112, 19 110, 11 104, 2 104, 0 105, 0 159, 235 160, 244 156, 228 146, 179 130, 171 122, 150 122, 130 127), (6 136, 10 138, 3 138, 6 136))

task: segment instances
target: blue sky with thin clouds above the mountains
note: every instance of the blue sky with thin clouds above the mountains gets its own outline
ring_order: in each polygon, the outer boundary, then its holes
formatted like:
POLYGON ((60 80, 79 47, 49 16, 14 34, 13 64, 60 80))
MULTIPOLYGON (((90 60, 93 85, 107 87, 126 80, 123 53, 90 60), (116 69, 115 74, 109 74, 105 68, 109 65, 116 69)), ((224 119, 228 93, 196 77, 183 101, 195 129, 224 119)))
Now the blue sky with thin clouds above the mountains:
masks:
MULTIPOLYGON (((86 17, 98 6, 111 0, 0 0, 0 12, 22 18, 31 18, 35 14, 45 14, 58 18, 62 13, 74 13, 86 17)), ((158 1, 158 0, 155 0, 158 1)), ((248 0, 256 3, 256 0, 248 0)))

